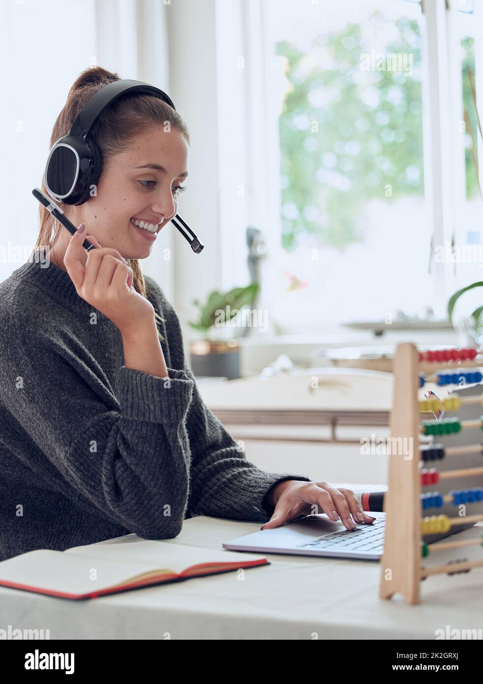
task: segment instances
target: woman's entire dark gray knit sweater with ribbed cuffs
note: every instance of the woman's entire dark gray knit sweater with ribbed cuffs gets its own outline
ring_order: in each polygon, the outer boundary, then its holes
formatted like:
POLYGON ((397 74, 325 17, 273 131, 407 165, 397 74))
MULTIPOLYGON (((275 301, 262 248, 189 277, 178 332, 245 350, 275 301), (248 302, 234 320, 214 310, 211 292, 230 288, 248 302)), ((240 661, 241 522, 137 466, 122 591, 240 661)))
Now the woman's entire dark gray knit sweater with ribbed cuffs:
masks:
POLYGON ((246 460, 200 398, 174 309, 146 285, 169 380, 124 365, 118 328, 53 263, 0 283, 0 560, 172 538, 196 515, 266 522, 276 482, 309 481, 246 460))

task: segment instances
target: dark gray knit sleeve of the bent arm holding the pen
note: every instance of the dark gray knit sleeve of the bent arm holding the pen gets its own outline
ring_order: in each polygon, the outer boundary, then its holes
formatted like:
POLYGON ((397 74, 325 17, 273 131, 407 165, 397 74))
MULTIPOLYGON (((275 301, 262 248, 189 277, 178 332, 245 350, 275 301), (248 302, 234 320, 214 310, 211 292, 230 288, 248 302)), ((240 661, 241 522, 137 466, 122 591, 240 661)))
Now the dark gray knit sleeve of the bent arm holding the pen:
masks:
POLYGON ((9 318, 0 391, 29 438, 107 520, 142 538, 177 536, 189 489, 185 415, 194 381, 180 370, 168 369, 166 379, 121 366, 114 397, 62 334, 9 318))

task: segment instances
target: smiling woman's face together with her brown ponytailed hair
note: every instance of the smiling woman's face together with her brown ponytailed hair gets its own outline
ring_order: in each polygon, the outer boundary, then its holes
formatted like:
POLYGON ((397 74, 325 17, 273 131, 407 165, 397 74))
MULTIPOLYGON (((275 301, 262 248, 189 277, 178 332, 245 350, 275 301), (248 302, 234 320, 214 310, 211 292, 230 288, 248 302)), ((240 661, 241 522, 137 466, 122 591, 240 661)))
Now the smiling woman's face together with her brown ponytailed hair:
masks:
MULTIPOLYGON (((68 133, 79 111, 94 93, 118 80, 116 73, 101 67, 83 71, 70 88, 66 105, 55 121, 50 146, 68 133)), ((149 219, 153 223, 151 219, 155 218, 156 224, 162 228, 177 213, 179 190, 172 196, 172 190, 168 190, 168 187, 170 180, 177 181, 187 175, 190 133, 181 116, 167 103, 151 95, 131 94, 118 98, 99 117, 92 129, 92 136, 102 151, 103 161, 103 172, 98 185, 92 189, 92 198, 80 207, 66 205, 62 201, 58 203, 73 224, 85 223, 87 232, 94 235, 100 244, 116 248, 123 257, 129 259, 133 270, 133 287, 146 297, 146 282, 138 258, 148 256, 154 239, 146 235, 146 231, 133 226, 131 218, 146 222, 149 219), (151 163, 153 152, 157 153, 157 163, 151 163), (114 164, 113 159, 116 159, 114 164), (146 165, 148 159, 150 163, 146 165), (160 161, 164 166, 161 166, 160 161), (138 167, 139 172, 133 176, 125 174, 122 169, 135 167, 138 167), (146 168, 151 170, 151 174, 146 175, 146 168), (156 192, 146 190, 138 182, 147 182, 148 177, 152 176, 149 183, 157 183, 161 169, 164 170, 164 183, 156 192), (168 178, 169 174, 171 179, 168 178), (135 187, 137 193, 134 192, 135 187), (106 196, 109 196, 108 203, 106 196), (124 231, 118 231, 120 225, 125 226, 124 231)), ((42 190, 47 192, 43 179, 42 190)), ((39 224, 35 247, 49 250, 50 261, 62 267, 68 235, 64 235, 62 226, 56 224, 44 207, 39 207, 39 224)))

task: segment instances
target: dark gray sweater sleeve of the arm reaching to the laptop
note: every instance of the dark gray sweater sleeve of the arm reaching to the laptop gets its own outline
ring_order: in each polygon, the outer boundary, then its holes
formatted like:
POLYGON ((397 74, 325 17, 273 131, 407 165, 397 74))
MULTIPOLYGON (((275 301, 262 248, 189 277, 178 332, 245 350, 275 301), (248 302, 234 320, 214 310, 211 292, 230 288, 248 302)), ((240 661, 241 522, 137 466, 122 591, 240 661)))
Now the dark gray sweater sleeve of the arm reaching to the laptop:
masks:
POLYGON ((166 298, 162 300, 161 308, 167 318, 169 339, 179 340, 176 349, 170 345, 171 363, 179 365, 193 381, 192 402, 185 421, 192 453, 188 511, 193 516, 266 523, 273 512, 263 505, 268 490, 283 480, 310 482, 310 477, 267 473, 246 459, 243 449, 200 397, 192 370, 185 360, 177 313, 166 298))

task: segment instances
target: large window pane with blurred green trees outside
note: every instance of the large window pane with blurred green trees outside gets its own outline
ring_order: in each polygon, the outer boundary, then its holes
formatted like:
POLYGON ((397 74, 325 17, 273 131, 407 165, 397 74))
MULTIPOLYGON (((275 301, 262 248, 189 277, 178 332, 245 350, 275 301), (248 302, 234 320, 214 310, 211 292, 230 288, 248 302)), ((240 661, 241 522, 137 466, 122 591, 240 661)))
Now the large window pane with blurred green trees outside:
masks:
POLYGON ((280 110, 274 315, 316 330, 424 313, 432 290, 419 4, 264 4, 267 70, 277 77, 267 96, 280 110))

